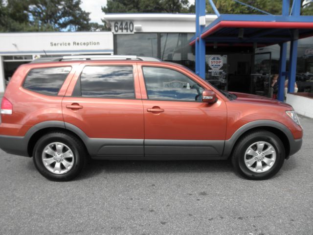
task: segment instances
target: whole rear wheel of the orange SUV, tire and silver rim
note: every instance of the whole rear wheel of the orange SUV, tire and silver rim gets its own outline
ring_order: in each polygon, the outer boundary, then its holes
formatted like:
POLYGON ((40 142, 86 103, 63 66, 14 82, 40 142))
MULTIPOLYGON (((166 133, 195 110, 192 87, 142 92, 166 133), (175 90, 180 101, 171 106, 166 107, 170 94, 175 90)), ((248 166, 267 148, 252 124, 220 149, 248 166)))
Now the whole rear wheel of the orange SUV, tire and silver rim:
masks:
POLYGON ((82 142, 73 135, 51 132, 40 138, 34 147, 33 160, 38 171, 53 181, 76 177, 86 162, 82 142))

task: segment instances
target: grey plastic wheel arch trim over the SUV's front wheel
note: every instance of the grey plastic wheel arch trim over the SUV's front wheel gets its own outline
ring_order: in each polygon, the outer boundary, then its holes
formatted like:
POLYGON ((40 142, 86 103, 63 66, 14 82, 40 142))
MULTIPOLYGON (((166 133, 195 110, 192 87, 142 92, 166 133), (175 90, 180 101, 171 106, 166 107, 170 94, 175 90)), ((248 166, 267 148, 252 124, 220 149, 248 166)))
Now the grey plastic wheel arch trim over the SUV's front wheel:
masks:
POLYGON ((238 141, 246 134, 256 130, 267 130, 274 133, 284 144, 286 151, 286 158, 289 157, 291 146, 290 143, 293 140, 291 131, 284 124, 273 120, 257 120, 246 123, 240 127, 229 140, 225 141, 223 158, 228 159, 231 157, 234 147, 238 141))

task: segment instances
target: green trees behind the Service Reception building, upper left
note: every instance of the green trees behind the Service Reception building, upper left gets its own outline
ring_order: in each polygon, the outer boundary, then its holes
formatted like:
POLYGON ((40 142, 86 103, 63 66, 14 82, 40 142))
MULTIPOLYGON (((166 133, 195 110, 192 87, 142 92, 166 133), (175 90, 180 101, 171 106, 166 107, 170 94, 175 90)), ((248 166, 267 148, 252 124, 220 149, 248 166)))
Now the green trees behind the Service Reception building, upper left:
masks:
POLYGON ((0 0, 0 32, 103 30, 104 25, 89 23, 89 13, 80 4, 81 0, 0 0))

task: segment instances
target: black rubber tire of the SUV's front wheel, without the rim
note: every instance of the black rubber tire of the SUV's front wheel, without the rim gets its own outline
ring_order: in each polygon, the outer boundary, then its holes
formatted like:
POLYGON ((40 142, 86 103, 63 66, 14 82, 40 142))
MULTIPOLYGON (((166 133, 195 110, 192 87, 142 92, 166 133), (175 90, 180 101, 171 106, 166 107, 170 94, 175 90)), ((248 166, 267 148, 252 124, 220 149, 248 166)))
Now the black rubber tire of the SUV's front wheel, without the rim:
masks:
POLYGON ((283 142, 272 132, 260 130, 246 134, 236 143, 231 160, 235 171, 245 178, 249 180, 266 180, 279 171, 284 164, 285 158, 286 153, 283 142), (276 151, 276 160, 274 164, 264 172, 254 172, 245 164, 246 150, 251 144, 258 141, 268 142, 276 151))

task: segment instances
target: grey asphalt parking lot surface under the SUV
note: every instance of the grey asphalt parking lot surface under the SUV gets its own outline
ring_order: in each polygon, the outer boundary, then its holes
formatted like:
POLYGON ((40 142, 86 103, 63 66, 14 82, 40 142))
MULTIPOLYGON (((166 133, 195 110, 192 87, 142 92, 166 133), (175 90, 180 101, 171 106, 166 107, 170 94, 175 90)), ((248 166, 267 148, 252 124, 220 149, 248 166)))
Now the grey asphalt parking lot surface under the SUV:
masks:
POLYGON ((312 234, 313 119, 300 121, 302 149, 266 181, 229 161, 92 161, 58 183, 0 151, 0 234, 312 234))

